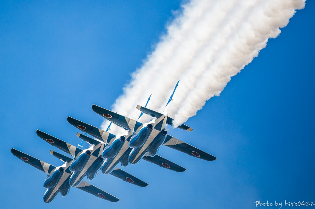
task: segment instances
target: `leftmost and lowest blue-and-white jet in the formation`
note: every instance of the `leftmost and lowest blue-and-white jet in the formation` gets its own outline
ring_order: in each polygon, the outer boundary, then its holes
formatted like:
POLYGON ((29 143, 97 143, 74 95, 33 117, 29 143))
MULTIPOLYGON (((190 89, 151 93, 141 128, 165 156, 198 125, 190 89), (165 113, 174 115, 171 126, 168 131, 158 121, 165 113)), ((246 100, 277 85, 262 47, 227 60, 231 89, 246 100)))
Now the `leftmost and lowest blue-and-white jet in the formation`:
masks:
MULTIPOLYGON (((65 164, 61 166, 53 166, 51 164, 45 163, 37 158, 34 158, 30 155, 22 153, 14 148, 11 148, 11 153, 17 158, 21 159, 27 164, 45 172, 47 174, 47 178, 44 182, 44 187, 47 188, 44 194, 44 202, 49 203, 54 200, 57 194, 60 192, 61 196, 66 196, 69 193, 71 188, 69 184, 70 176, 73 172, 70 171, 69 167, 73 161, 72 158, 68 158, 60 153, 50 151, 50 154, 59 158, 65 164)), ((76 188, 86 191, 96 197, 102 198, 104 200, 108 200, 111 202, 117 202, 119 199, 117 197, 108 194, 107 192, 85 182, 82 181, 80 184, 76 186, 76 188)))

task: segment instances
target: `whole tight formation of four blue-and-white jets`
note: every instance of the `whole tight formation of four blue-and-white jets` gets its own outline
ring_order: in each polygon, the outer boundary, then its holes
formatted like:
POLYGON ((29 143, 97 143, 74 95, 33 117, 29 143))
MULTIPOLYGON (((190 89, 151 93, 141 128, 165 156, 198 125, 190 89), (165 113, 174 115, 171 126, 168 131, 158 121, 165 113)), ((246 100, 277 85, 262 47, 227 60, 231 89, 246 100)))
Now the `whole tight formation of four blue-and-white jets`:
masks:
MULTIPOLYGON (((117 168, 118 163, 122 167, 126 167, 129 164, 138 163, 141 159, 176 172, 185 171, 185 168, 157 155, 161 145, 207 161, 216 159, 216 157, 182 142, 167 133, 166 126, 173 126, 173 119, 168 117, 167 109, 177 86, 178 82, 163 113, 146 108, 151 96, 145 107, 138 105, 137 109, 141 111, 141 114, 137 121, 119 115, 117 112, 114 113, 100 106, 92 105, 94 112, 111 121, 106 131, 68 116, 67 121, 85 133, 77 133, 77 137, 89 143, 90 147, 88 149, 81 149, 82 143, 78 145, 79 148, 37 130, 36 134, 38 137, 71 156, 67 157, 51 150, 50 154, 64 162, 61 166, 53 166, 45 163, 14 148, 11 148, 11 153, 25 163, 47 174, 47 178, 44 181, 44 187, 47 188, 44 194, 44 202, 46 203, 53 201, 59 192, 61 196, 66 196, 71 187, 78 188, 111 202, 117 202, 119 201, 117 197, 83 181, 84 178, 87 177, 89 180, 93 180, 98 171, 101 170, 103 174, 111 174, 128 183, 146 187, 148 185, 146 182, 117 168), (143 113, 150 115, 152 121, 144 124, 140 123, 143 113), (112 123, 120 126, 126 132, 120 136, 109 133, 108 130, 112 123), (94 138, 88 137, 87 134, 94 138)), ((192 128, 185 124, 178 126, 178 128, 192 131, 192 128)))

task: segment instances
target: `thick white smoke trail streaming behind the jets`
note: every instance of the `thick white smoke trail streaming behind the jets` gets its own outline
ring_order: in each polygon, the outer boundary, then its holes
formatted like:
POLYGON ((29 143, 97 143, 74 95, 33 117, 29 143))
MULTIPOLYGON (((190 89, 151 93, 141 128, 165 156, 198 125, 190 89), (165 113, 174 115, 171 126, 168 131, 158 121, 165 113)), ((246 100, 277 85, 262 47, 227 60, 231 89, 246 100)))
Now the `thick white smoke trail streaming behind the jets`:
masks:
MULTIPOLYGON (((280 34, 306 0, 192 0, 167 27, 155 50, 132 74, 113 110, 132 119, 152 94, 148 108, 159 112, 179 87, 168 114, 175 125, 196 115, 219 96, 231 77, 280 34)), ((146 118, 143 118, 146 120, 146 118)), ((108 126, 104 121, 101 128, 108 126)), ((113 132, 120 129, 115 127, 113 132)), ((119 131, 120 132, 120 131, 119 131)))

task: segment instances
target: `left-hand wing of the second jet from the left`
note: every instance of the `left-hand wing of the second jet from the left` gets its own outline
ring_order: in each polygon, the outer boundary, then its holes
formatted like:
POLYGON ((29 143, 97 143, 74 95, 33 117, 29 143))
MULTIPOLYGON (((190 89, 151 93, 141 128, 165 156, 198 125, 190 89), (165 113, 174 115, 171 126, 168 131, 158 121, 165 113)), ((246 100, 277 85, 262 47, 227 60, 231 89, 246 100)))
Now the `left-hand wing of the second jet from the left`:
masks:
POLYGON ((60 139, 57 139, 56 137, 50 136, 47 133, 44 133, 43 131, 36 130, 36 134, 38 137, 42 138, 45 142, 48 142, 50 145, 57 147, 58 149, 61 149, 62 151, 68 153, 72 157, 76 157, 78 153, 82 151, 82 149, 75 147, 71 144, 68 144, 65 141, 62 141, 60 139))

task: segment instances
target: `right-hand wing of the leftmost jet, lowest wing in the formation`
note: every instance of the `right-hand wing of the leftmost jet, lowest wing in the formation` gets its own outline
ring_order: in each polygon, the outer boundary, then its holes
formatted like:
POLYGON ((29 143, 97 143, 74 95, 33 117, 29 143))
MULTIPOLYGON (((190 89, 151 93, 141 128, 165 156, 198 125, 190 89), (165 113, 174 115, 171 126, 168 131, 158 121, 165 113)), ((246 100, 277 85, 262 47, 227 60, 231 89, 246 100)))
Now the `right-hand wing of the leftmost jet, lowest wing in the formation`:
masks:
POLYGON ((93 186, 89 184, 88 182, 82 181, 81 184, 77 185, 76 188, 86 191, 95 197, 99 197, 104 200, 108 200, 111 202, 118 202, 119 199, 117 197, 112 196, 111 194, 107 193, 106 191, 103 191, 96 186, 93 186))

